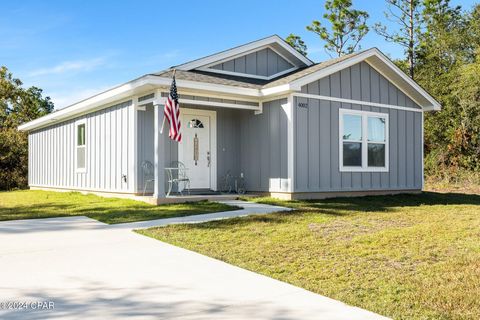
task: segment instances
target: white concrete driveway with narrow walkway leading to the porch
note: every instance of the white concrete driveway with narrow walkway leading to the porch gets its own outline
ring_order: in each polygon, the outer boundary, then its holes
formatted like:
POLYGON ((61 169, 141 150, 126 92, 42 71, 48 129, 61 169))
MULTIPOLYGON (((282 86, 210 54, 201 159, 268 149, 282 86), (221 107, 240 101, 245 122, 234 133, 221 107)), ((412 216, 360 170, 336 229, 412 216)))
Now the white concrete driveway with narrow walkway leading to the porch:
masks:
MULTIPOLYGON (((234 211, 209 216, 227 215, 234 211)), ((182 219, 169 220, 201 217, 182 219)), ((112 227, 86 217, 0 222, 0 303, 55 307, 0 310, 0 319, 384 319, 130 231, 156 224, 112 227)))

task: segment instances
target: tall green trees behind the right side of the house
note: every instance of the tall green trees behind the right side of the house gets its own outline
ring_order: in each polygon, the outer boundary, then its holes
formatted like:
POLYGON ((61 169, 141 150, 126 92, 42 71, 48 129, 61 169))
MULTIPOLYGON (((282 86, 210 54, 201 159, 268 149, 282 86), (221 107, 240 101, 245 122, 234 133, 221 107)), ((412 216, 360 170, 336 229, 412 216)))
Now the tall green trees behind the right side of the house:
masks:
MULTIPOLYGON (((480 4, 463 9, 450 0, 385 0, 385 19, 370 24, 351 0, 327 0, 323 22, 306 30, 317 34, 331 56, 361 49, 375 32, 404 49, 394 62, 442 104, 425 113, 425 173, 458 181, 480 176, 480 4)), ((287 42, 306 55, 302 38, 287 42)), ((480 183, 480 181, 476 181, 480 183)))

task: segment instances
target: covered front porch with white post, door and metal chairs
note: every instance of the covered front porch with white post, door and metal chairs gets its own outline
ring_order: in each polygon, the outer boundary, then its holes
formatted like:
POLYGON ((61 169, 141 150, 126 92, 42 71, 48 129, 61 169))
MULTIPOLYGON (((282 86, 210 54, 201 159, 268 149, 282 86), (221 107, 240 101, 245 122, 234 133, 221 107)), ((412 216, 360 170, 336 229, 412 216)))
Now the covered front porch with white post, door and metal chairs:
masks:
POLYGON ((177 143, 168 137, 168 123, 160 134, 164 94, 160 96, 136 101, 136 200, 152 204, 232 200, 239 196, 235 193, 239 185, 243 193, 256 189, 246 182, 248 159, 242 155, 251 148, 245 143, 249 122, 261 116, 258 102, 181 96, 182 142, 177 143), (175 170, 180 165, 185 170, 175 170), (188 181, 171 185, 172 175, 185 175, 188 181))

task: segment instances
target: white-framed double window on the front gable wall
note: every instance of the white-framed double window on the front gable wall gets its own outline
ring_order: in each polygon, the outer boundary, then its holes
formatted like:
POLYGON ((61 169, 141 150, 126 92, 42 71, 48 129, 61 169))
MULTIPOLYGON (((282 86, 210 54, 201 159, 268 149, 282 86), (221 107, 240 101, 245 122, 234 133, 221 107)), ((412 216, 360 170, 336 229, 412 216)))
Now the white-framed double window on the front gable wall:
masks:
POLYGON ((388 114, 339 110, 340 171, 388 171, 388 114))

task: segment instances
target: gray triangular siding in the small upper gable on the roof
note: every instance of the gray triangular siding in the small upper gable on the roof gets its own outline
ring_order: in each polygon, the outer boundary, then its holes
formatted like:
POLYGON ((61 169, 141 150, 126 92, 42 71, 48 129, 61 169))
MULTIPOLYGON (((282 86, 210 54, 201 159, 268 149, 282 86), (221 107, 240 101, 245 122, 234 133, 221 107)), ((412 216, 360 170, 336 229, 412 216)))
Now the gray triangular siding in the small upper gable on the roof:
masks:
POLYGON ((270 48, 231 59, 209 69, 269 77, 294 66, 270 48))

